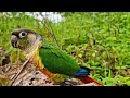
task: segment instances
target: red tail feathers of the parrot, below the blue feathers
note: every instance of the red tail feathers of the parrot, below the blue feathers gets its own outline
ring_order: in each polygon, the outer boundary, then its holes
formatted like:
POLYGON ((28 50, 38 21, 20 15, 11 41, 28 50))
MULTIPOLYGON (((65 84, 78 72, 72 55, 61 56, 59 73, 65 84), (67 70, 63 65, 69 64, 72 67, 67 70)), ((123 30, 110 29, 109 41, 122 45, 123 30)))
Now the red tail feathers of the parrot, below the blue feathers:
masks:
POLYGON ((81 82, 83 82, 84 84, 88 84, 88 83, 95 83, 96 85, 101 85, 103 86, 101 83, 94 81, 93 78, 89 77, 89 76, 80 76, 78 77, 81 82))

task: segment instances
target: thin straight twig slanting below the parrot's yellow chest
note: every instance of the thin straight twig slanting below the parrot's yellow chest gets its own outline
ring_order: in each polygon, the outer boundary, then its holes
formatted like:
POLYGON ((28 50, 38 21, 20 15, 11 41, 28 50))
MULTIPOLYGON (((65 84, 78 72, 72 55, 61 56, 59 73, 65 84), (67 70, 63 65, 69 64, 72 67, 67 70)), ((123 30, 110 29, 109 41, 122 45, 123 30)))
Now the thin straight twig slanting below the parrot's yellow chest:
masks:
POLYGON ((22 69, 20 69, 20 71, 17 72, 17 74, 12 78, 11 83, 9 83, 9 86, 12 86, 13 83, 16 81, 16 78, 20 76, 20 74, 22 73, 22 71, 24 70, 24 68, 27 65, 29 59, 27 59, 24 64, 22 65, 22 69))

